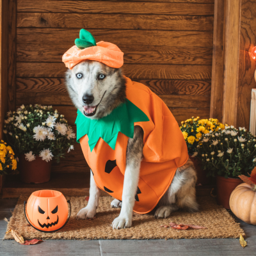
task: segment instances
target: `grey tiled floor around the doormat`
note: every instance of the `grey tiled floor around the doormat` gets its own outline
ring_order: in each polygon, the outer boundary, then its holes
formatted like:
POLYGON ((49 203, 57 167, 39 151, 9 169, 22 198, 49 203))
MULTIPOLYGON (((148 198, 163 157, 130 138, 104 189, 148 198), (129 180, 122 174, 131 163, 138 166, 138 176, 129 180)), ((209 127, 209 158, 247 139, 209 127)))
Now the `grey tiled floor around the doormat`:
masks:
MULTIPOLYGON (((10 218, 17 198, 0 199, 0 238, 6 232, 4 218, 10 218)), ((25 246, 13 240, 0 239, 1 256, 27 255, 90 255, 90 256, 253 256, 256 255, 256 226, 241 221, 248 246, 242 248, 239 239, 180 239, 180 240, 47 240, 25 246)))

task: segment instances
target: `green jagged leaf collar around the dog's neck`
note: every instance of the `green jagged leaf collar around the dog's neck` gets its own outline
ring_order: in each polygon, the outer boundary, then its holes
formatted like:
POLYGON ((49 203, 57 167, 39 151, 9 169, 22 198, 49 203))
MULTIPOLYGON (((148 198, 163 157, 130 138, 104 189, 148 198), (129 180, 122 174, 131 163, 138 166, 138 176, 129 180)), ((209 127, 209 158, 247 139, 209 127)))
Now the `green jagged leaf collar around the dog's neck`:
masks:
POLYGON ((115 108, 110 115, 100 119, 87 118, 78 110, 76 118, 77 142, 87 134, 91 152, 99 138, 102 138, 115 150, 118 132, 133 138, 134 122, 147 121, 149 121, 148 116, 128 99, 118 108, 115 108))

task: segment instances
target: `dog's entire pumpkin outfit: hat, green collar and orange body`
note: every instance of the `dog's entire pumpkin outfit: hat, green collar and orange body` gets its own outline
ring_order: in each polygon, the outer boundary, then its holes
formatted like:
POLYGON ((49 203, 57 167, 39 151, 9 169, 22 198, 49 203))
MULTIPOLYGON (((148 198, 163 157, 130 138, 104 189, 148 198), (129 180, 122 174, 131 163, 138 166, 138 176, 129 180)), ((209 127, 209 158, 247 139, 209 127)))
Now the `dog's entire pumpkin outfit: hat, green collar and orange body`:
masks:
MULTIPOLYGON (((93 36, 81 29, 76 48, 64 54, 63 62, 68 68, 83 60, 120 67, 123 60, 120 60, 119 48, 114 47, 116 52, 104 51, 108 56, 101 58, 99 44, 102 42, 95 46, 93 36)), ((108 44, 104 42, 106 47, 108 44)), ((127 100, 110 115, 91 120, 77 111, 77 141, 81 143, 97 186, 122 200, 127 142, 133 138, 134 126, 140 125, 144 131, 144 147, 134 211, 145 214, 154 209, 169 188, 177 168, 188 160, 188 148, 177 121, 163 100, 147 86, 127 77, 126 81, 127 100)))

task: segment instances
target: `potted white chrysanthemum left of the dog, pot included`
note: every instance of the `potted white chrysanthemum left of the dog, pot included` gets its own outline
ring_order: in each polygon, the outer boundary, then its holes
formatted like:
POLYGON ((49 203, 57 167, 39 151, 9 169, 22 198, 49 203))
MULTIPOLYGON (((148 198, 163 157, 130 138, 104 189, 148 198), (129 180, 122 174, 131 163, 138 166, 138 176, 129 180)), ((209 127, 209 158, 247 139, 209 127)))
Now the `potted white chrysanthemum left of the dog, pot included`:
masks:
POLYGON ((76 134, 64 115, 52 106, 20 106, 9 111, 4 120, 4 133, 19 155, 20 178, 23 182, 42 183, 50 179, 51 160, 74 149, 76 134))

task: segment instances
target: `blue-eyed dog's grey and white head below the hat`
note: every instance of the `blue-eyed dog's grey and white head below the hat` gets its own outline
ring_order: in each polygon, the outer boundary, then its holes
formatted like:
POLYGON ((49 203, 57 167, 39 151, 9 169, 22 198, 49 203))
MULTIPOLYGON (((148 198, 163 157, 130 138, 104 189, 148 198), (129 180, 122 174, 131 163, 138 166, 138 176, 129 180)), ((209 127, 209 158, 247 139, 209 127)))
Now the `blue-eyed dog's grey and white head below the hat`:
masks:
POLYGON ((65 80, 72 102, 88 118, 109 115, 125 101, 125 79, 120 68, 86 60, 68 69, 65 80))

